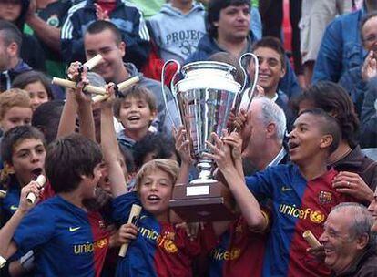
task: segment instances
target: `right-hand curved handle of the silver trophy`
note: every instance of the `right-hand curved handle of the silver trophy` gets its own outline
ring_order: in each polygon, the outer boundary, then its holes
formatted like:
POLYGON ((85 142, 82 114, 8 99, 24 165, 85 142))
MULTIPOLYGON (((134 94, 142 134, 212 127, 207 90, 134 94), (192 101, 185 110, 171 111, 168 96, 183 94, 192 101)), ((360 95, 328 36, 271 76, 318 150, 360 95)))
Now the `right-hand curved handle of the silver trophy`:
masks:
POLYGON ((246 110, 249 110, 251 101, 255 97, 254 92, 255 92, 255 88, 257 87, 257 84, 258 84, 258 77, 260 75, 260 63, 258 61, 257 56, 255 56, 252 53, 245 53, 245 54, 243 54, 242 56, 239 57, 239 67, 242 69, 244 79, 243 79, 242 89, 239 91, 239 95, 238 95, 238 97, 236 99, 236 103, 235 103, 236 114, 239 113, 239 107, 240 107, 240 104, 241 104, 241 101, 242 101, 242 98, 243 98, 243 94, 245 93, 245 87, 246 87, 247 79, 248 79, 248 74, 246 73, 245 67, 242 66, 242 61, 243 61, 245 56, 251 56, 251 58, 254 60, 254 64, 255 64, 254 79, 253 79, 252 85, 250 87, 250 97, 249 97, 248 106, 247 106, 246 110))

